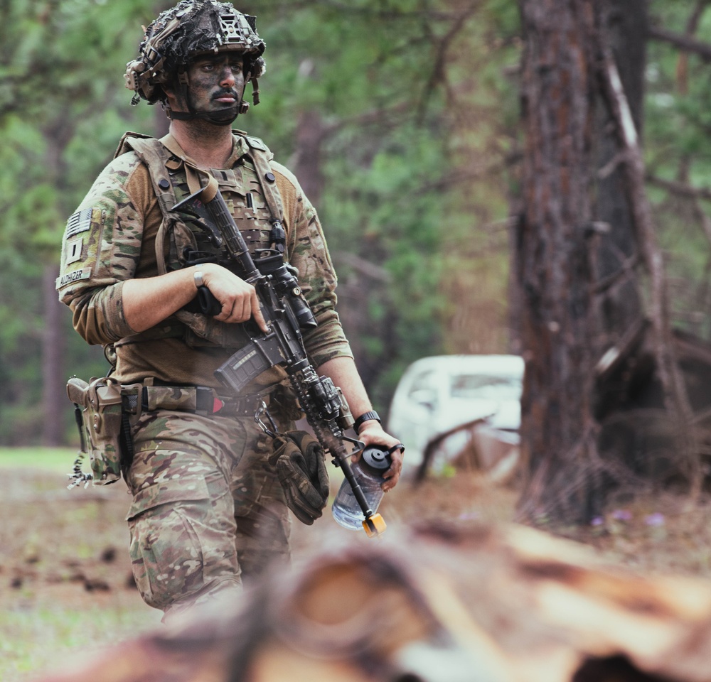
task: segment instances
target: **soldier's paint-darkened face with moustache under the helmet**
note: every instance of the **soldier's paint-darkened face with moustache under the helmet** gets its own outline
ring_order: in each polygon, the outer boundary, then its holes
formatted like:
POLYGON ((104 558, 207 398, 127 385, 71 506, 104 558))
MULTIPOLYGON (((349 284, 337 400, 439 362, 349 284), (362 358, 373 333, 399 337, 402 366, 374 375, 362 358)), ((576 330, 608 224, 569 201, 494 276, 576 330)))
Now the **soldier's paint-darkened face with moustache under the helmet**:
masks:
POLYGON ((196 112, 232 107, 245 91, 244 62, 240 55, 201 55, 188 65, 188 102, 196 112))

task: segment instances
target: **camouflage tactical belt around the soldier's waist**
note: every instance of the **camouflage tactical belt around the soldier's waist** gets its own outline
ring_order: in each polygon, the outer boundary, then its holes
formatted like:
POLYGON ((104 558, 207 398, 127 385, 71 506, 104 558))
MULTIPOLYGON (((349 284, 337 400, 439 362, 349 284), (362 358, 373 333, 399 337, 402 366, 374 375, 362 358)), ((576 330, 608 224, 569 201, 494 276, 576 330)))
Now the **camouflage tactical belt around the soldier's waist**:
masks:
POLYGON ((269 394, 220 396, 210 386, 122 386, 124 409, 131 414, 156 410, 176 410, 220 417, 255 416, 262 403, 269 405, 269 394), (140 410, 139 410, 140 396, 140 410))

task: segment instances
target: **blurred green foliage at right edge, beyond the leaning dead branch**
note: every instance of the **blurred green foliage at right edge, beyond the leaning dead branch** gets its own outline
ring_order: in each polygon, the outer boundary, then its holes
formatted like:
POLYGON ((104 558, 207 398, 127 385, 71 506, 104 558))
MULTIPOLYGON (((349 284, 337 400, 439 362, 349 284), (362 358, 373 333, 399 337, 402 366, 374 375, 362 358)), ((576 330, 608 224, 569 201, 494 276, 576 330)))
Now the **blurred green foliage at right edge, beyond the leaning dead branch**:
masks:
MULTIPOLYGON (((684 35, 694 6, 653 2, 653 23, 684 35)), ((693 38, 705 40, 711 28, 707 6, 693 38)), ((711 74, 694 53, 661 40, 648 42, 644 147, 648 174, 693 188, 711 187, 711 74)), ((656 227, 666 254, 673 323, 711 338, 708 305, 710 242, 703 215, 711 204, 654 188, 650 193, 656 227)))

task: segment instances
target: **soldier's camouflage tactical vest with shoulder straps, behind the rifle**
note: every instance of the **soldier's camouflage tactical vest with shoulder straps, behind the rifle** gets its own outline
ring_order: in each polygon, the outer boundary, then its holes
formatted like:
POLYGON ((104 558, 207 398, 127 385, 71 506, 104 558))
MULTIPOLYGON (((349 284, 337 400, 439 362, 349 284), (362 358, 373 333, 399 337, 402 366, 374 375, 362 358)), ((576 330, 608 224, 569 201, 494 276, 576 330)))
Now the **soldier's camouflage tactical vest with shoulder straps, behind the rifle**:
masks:
MULTIPOLYGON (((218 180, 220 193, 227 203, 237 227, 252 255, 257 249, 270 246, 269 233, 274 221, 284 224, 284 208, 276 178, 269 165, 273 158, 260 139, 233 131, 235 144, 242 146, 242 157, 234 168, 211 170, 218 180)), ((199 224, 183 220, 186 216, 173 212, 173 206, 201 187, 199 171, 171 135, 161 140, 138 133, 123 136, 114 158, 134 151, 148 168, 163 222, 156 235, 158 273, 182 269, 186 256, 198 253, 218 256, 219 250, 199 224)), ((204 183, 202 183, 204 185, 204 183)), ((178 310, 166 323, 127 337, 115 344, 183 336, 192 346, 219 345, 238 348, 245 345, 247 335, 242 325, 228 325, 201 313, 178 310), (173 319, 178 320, 177 323, 173 319)))

